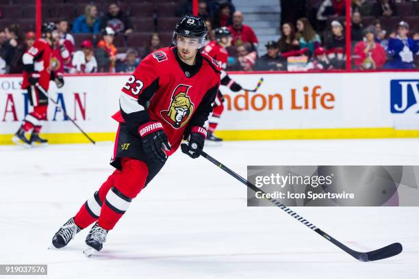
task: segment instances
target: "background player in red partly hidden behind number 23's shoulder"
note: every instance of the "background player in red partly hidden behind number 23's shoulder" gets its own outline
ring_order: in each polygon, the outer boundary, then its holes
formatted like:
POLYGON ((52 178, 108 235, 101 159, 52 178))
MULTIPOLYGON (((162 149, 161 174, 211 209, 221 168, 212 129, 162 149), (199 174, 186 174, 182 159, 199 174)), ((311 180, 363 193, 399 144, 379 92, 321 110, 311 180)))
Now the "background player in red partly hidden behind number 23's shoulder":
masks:
MULTIPOLYGON (((227 47, 231 45, 231 32, 227 27, 220 27, 214 30, 216 40, 209 42, 203 49, 203 53, 210 55, 212 58, 218 61, 218 64, 221 68, 221 85, 225 85, 230 88, 233 92, 238 92, 242 90, 242 86, 233 81, 225 69, 227 68, 227 59, 229 53, 227 52, 227 47)), ((208 135, 207 140, 214 142, 221 142, 223 139, 216 137, 214 131, 218 125, 221 114, 223 114, 224 105, 223 105, 223 94, 218 92, 216 101, 214 103, 214 111, 212 111, 212 117, 209 120, 208 135)))

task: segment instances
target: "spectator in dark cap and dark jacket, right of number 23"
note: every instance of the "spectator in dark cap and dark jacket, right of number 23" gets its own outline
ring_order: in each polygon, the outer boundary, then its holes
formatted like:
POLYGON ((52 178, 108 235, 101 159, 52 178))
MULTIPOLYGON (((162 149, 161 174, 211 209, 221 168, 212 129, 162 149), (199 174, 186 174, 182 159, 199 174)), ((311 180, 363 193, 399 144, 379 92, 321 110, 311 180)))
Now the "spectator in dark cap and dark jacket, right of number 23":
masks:
POLYGON ((265 47, 267 53, 256 60, 255 70, 285 70, 286 65, 279 55, 278 43, 270 40, 265 47))

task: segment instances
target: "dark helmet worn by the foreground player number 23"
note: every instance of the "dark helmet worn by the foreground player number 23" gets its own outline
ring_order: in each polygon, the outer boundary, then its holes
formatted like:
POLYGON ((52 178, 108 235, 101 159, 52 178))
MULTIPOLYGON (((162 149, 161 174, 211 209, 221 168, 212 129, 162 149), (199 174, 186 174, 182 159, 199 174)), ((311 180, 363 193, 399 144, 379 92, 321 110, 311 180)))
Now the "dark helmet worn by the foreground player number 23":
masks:
POLYGON ((199 40, 199 48, 205 44, 205 36, 207 36, 208 28, 203 21, 203 18, 197 16, 183 16, 183 18, 176 24, 175 31, 173 31, 173 44, 177 45, 177 36, 184 36, 189 38, 197 38, 199 40))

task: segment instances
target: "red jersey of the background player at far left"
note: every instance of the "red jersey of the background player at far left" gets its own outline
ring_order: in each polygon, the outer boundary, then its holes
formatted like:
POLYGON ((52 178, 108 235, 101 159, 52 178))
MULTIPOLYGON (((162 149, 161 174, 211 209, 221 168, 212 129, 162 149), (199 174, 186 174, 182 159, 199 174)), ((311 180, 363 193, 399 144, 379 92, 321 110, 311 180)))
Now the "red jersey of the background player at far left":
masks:
MULTIPOLYGON (((45 90, 48 90, 49 88, 49 80, 51 77, 51 55, 52 50, 48 42, 44 39, 38 39, 35 41, 34 45, 28 49, 25 54, 23 54, 22 57, 23 65, 25 68, 27 68, 27 66, 33 65, 31 70, 39 72, 40 78, 38 82, 45 90)), ((23 71, 22 89, 29 87, 29 75, 30 74, 27 70, 23 71)))

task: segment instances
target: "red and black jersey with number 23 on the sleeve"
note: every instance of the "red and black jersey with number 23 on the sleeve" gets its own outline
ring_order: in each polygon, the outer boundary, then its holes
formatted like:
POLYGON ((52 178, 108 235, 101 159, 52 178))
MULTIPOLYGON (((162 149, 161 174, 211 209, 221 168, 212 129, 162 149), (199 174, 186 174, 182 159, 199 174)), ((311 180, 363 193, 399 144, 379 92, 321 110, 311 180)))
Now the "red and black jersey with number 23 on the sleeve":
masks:
POLYGON ((159 49, 145 57, 123 86, 120 111, 112 116, 138 135, 141 124, 162 123, 173 154, 183 135, 203 127, 212 111, 220 85, 218 63, 198 53, 196 65, 181 62, 175 47, 159 49))

